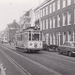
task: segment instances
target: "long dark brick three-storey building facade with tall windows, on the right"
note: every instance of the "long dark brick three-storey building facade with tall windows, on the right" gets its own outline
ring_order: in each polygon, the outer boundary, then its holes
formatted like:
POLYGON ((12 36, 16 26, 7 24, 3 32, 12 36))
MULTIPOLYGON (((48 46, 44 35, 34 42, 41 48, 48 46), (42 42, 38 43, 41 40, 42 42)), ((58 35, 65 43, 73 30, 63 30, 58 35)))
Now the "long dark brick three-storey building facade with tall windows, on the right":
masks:
POLYGON ((45 0, 35 9, 35 25, 48 45, 75 41, 75 0, 45 0))

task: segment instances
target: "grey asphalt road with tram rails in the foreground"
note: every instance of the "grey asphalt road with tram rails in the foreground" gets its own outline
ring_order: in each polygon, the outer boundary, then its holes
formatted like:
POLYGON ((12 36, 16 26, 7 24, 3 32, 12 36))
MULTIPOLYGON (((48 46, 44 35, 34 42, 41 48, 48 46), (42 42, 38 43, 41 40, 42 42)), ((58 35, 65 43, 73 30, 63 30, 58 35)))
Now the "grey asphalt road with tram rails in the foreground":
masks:
POLYGON ((75 75, 75 57, 57 52, 22 53, 0 45, 6 75, 75 75))

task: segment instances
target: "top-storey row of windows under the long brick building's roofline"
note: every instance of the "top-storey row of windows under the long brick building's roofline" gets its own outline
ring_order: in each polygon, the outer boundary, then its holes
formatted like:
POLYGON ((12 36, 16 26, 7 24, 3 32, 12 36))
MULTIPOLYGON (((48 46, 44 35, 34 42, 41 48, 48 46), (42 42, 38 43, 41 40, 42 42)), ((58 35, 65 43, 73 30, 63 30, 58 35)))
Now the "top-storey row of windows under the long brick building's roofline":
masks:
MULTIPOLYGON (((35 18, 38 19, 45 15, 48 15, 49 13, 52 13, 56 10, 56 3, 57 3, 57 10, 61 8, 61 3, 62 3, 62 8, 71 5, 72 0, 57 0, 57 2, 51 3, 49 6, 46 6, 45 8, 41 9, 41 11, 38 11, 35 13, 35 18), (40 14, 41 13, 41 14, 40 14)), ((74 0, 75 3, 75 0, 74 0)))

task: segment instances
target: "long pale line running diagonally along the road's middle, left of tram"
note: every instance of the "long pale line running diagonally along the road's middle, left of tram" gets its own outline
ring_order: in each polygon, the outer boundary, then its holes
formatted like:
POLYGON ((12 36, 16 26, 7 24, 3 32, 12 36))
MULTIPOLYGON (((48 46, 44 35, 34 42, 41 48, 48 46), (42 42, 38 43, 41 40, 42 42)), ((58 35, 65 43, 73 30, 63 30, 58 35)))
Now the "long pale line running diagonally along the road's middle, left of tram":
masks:
MULTIPOLYGON (((6 48, 6 47, 4 47, 4 46, 3 46, 3 48, 5 48, 5 49, 11 51, 10 49, 8 49, 8 48, 6 48)), ((11 51, 11 52, 15 53, 14 51, 11 51)), ((15 54, 18 55, 18 56, 20 56, 20 57, 22 57, 22 58, 24 58, 25 60, 28 60, 29 62, 31 62, 31 63, 33 63, 33 64, 39 66, 39 68, 42 68, 42 69, 44 69, 44 70, 50 72, 52 75, 62 75, 61 73, 56 72, 56 71, 54 71, 54 70, 52 70, 52 69, 50 69, 50 68, 48 68, 48 67, 46 67, 46 66, 44 66, 44 65, 42 65, 42 64, 40 64, 40 63, 38 63, 38 62, 36 62, 36 61, 33 61, 33 60, 31 60, 31 59, 29 59, 29 58, 27 58, 27 57, 24 57, 23 55, 20 55, 20 54, 18 54, 18 53, 15 53, 15 54)))

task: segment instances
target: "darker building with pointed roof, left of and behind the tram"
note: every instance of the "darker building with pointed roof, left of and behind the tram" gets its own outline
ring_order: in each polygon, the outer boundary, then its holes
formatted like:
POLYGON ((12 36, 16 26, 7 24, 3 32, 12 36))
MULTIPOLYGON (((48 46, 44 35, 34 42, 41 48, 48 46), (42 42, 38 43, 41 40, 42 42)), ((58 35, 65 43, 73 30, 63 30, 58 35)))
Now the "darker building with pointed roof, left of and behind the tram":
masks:
POLYGON ((6 31, 7 31, 7 40, 11 40, 11 42, 14 42, 15 40, 15 33, 20 28, 20 26, 17 24, 17 22, 14 20, 13 23, 8 24, 6 31))

